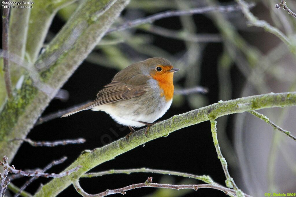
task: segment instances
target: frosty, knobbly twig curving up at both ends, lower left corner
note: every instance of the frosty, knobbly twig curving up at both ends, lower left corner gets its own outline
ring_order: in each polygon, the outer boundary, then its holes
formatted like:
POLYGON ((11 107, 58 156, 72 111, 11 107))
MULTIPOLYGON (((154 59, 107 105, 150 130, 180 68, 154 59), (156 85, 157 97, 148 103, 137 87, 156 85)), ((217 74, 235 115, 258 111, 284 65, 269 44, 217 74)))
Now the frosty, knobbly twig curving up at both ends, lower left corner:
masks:
POLYGON ((55 173, 44 173, 44 172, 25 172, 22 170, 16 170, 14 165, 10 166, 7 163, 7 157, 4 156, 2 161, 0 161, 0 165, 4 167, 4 170, 8 170, 10 173, 15 173, 15 174, 20 174, 23 176, 28 176, 28 177, 33 177, 33 176, 38 176, 38 177, 45 177, 45 178, 61 178, 67 175, 70 175, 72 172, 76 172, 79 168, 81 168, 81 165, 78 165, 70 170, 67 170, 65 172, 61 172, 59 174, 55 174, 55 173))

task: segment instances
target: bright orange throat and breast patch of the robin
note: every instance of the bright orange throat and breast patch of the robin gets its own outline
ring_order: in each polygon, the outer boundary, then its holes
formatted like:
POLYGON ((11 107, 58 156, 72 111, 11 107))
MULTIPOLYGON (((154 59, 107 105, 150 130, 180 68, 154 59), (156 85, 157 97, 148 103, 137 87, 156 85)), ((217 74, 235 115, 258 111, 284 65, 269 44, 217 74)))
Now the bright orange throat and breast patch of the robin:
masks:
POLYGON ((165 96, 166 101, 170 101, 174 95, 173 72, 155 74, 152 78, 157 80, 160 89, 163 90, 160 96, 165 96))

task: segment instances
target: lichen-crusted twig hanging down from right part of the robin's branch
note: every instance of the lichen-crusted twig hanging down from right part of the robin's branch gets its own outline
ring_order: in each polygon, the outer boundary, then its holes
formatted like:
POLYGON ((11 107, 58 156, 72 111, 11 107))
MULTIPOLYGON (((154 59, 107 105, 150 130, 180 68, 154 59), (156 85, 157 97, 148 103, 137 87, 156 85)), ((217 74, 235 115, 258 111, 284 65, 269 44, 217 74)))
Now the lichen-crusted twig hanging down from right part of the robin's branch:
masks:
POLYGON ((225 177, 226 177, 226 186, 228 188, 234 188, 235 191, 242 193, 242 191, 237 187, 237 185, 234 183, 233 178, 230 176, 229 172, 228 172, 228 167, 227 167, 227 162, 226 159, 223 157, 222 152, 220 150, 220 146, 218 143, 218 138, 217 138, 217 121, 215 121, 214 119, 210 118, 210 122, 211 122, 211 131, 212 131, 212 137, 213 137, 213 141, 214 141, 214 146, 218 155, 218 159, 221 162, 225 177))

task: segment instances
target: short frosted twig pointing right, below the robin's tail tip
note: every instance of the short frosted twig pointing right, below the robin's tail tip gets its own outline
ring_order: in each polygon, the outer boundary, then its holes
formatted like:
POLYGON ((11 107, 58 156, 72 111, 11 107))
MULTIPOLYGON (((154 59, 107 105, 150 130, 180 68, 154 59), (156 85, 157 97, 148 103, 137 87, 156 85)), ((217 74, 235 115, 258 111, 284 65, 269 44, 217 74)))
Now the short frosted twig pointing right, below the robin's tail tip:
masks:
POLYGON ((83 138, 65 139, 65 140, 57 140, 57 141, 33 141, 28 138, 26 139, 15 138, 11 141, 14 141, 14 140, 22 140, 22 141, 28 142, 31 146, 48 146, 48 147, 67 145, 67 144, 82 144, 86 141, 83 138))

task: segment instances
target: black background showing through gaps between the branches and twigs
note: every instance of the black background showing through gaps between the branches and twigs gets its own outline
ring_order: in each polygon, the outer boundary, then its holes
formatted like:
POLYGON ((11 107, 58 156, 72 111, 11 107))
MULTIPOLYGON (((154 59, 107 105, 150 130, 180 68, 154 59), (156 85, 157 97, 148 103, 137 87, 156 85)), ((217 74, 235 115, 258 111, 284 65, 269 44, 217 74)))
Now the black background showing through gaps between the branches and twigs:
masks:
MULTIPOLYGON (((227 2, 227 1, 221 1, 227 2)), ((149 14, 147 14, 149 15, 149 14)), ((195 15, 194 20, 198 26, 199 33, 218 33, 212 21, 204 15, 195 15)), ((64 22, 55 17, 50 28, 51 32, 57 33, 64 22)), ((178 30, 181 27, 178 17, 161 19, 155 22, 156 25, 169 29, 178 30)), ((178 53, 185 49, 184 42, 169 38, 163 38, 155 35, 153 42, 155 45, 165 49, 171 54, 178 53)), ((206 97, 208 103, 215 103, 218 99, 218 76, 217 61, 222 52, 221 43, 208 43, 202 53, 201 63, 201 83, 198 85, 207 87, 209 93, 206 97)), ((174 67, 178 68, 178 65, 174 67)), ((128 65, 127 65, 128 66, 128 65)), ((65 109, 73 105, 93 100, 96 93, 118 72, 116 69, 106 68, 84 62, 77 71, 70 77, 67 83, 62 87, 69 92, 70 97, 63 102, 57 99, 52 100, 46 108, 43 115, 65 109)), ((233 87, 233 98, 239 96, 239 87, 243 82, 241 73, 236 67, 231 68, 231 79, 236 86, 233 87)), ((178 73, 175 73, 178 75, 178 73)), ((179 85, 183 85, 184 80, 178 81, 179 85)), ((186 100, 180 107, 172 106, 168 112, 160 118, 165 120, 173 115, 185 113, 192 108, 186 100)), ((230 116, 229 123, 233 121, 230 116)), ((228 124, 229 125, 229 124, 228 124)), ((30 131, 28 138, 35 141, 54 141, 61 139, 85 138, 84 144, 56 146, 56 147, 32 147, 28 143, 23 143, 15 156, 12 164, 17 169, 34 169, 42 168, 54 159, 67 156, 68 159, 61 165, 55 166, 49 172, 61 172, 70 165, 85 149, 94 149, 101 147, 102 136, 108 134, 112 140, 117 140, 129 133, 128 128, 120 131, 118 125, 104 112, 93 112, 91 110, 83 111, 67 118, 57 118, 52 121, 36 126, 30 131), (114 129, 119 136, 115 136, 110 132, 110 128, 114 129)), ((231 139, 231 126, 227 126, 227 134, 231 139)), ((218 133, 219 135, 219 133, 218 133)), ((107 141, 107 138, 104 138, 107 141)), ((223 150, 222 150, 223 153, 223 150)), ((113 160, 105 162, 92 171, 103 171, 109 169, 129 169, 147 167, 151 169, 173 170, 179 172, 188 172, 196 175, 210 175, 216 182, 225 185, 225 176, 220 161, 217 159, 215 147, 213 145, 212 135, 210 132, 210 123, 204 122, 194 126, 180 129, 171 133, 168 137, 162 137, 145 144, 144 147, 139 146, 135 149, 119 155, 113 160)), ((238 169, 229 167, 230 174, 235 177, 238 169)), ((105 175, 98 178, 81 178, 82 188, 88 193, 99 193, 106 189, 116 189, 130 184, 143 183, 148 177, 153 177, 154 183, 163 180, 164 175, 152 173, 133 173, 130 175, 117 174, 105 175)), ((184 180, 182 177, 168 177, 165 183, 178 184, 184 180)), ((17 186, 21 186, 28 178, 21 178, 13 181, 17 186)), ((45 184, 50 179, 39 178, 31 184, 26 191, 35 193, 40 184, 45 184)), ((188 179, 187 179, 188 180, 188 179)), ((192 183, 202 183, 193 180, 192 183)), ((238 185, 240 186, 240 185, 238 185)), ((127 191, 127 196, 142 196, 154 194, 155 188, 141 188, 127 191)), ((178 193, 181 191, 173 191, 178 193)), ((183 191, 184 192, 184 191, 183 191)), ((114 196, 121 196, 115 194, 114 196)), ((185 196, 224 196, 223 192, 213 189, 199 189, 198 191, 190 191, 185 196)), ((69 186, 59 196, 80 196, 73 186, 69 186)))

